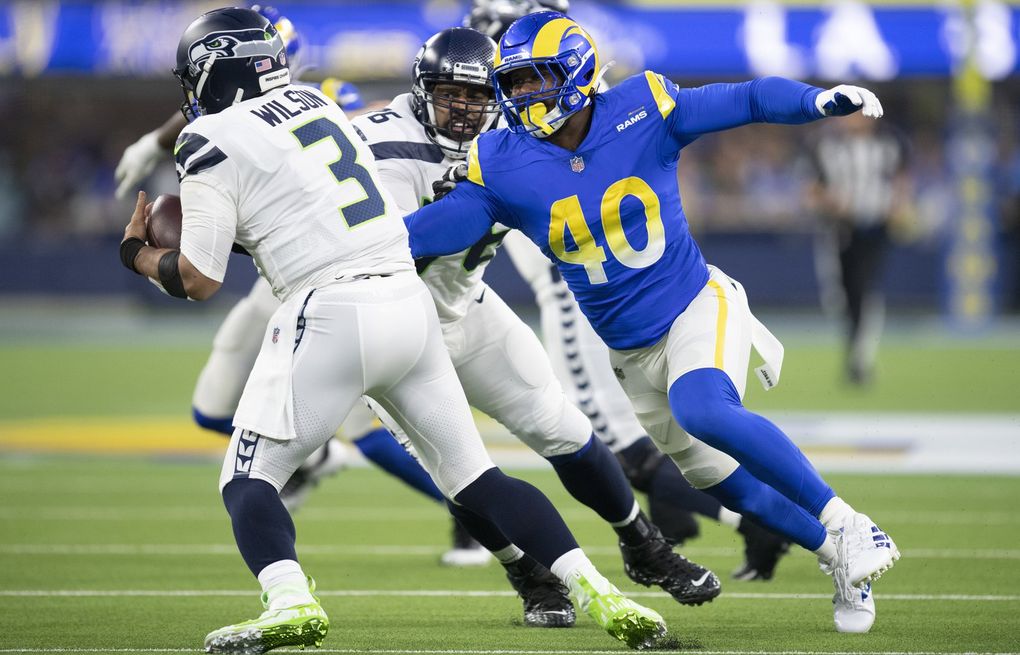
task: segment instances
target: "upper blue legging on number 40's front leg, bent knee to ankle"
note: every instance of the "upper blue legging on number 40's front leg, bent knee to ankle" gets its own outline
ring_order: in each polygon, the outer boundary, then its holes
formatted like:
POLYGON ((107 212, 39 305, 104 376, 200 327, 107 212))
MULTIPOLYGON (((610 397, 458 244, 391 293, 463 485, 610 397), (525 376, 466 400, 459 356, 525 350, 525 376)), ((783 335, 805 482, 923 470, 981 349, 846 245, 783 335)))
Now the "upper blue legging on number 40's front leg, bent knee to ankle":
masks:
POLYGON ((669 388, 669 406, 680 427, 738 461, 812 516, 835 496, 775 423, 745 409, 722 370, 699 368, 681 375, 669 388))

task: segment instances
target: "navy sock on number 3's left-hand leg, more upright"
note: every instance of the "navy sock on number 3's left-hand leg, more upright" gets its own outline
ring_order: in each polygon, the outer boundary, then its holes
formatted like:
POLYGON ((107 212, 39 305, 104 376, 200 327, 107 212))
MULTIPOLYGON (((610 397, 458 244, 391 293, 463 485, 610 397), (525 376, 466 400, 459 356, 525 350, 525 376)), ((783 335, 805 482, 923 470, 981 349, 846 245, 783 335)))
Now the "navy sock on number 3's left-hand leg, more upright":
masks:
POLYGON ((223 505, 238 550, 252 573, 258 575, 282 559, 298 561, 294 521, 272 485, 250 477, 232 480, 223 487, 223 505))

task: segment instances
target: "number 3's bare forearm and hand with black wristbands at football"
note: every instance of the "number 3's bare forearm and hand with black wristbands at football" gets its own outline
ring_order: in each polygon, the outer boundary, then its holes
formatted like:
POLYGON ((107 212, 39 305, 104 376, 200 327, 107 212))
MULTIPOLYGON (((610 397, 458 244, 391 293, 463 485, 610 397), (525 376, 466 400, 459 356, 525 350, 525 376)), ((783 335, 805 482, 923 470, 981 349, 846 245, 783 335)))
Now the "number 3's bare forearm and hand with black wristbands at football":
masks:
POLYGON ((135 272, 158 283, 175 298, 208 299, 219 291, 218 281, 205 276, 180 250, 145 245, 145 218, 152 208, 146 201, 145 192, 138 192, 135 213, 120 242, 120 260, 135 272))

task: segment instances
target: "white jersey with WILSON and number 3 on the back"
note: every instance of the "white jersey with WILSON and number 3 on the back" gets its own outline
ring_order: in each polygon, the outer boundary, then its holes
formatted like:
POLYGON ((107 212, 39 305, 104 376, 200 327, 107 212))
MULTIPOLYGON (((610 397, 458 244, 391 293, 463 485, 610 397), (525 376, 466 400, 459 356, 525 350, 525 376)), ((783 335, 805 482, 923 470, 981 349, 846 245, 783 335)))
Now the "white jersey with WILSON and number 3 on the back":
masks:
POLYGON ((181 250, 222 281, 233 243, 273 294, 410 270, 403 213, 368 146, 321 92, 289 85, 202 116, 174 149, 181 250))

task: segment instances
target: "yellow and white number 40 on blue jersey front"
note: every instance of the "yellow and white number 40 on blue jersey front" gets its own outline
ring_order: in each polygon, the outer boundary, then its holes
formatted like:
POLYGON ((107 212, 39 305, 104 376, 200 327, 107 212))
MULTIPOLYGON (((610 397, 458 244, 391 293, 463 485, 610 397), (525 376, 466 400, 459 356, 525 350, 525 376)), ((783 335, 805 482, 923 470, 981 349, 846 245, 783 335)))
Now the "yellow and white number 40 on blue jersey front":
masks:
MULTIPOLYGON (((602 196, 602 232, 606 235, 606 245, 616 260, 628 268, 650 266, 662 257, 666 249, 665 231, 659 210, 659 197, 648 183, 641 178, 624 178, 606 189, 602 196), (633 196, 645 207, 645 229, 648 241, 641 250, 635 250, 623 232, 620 204, 627 196, 633 196)), ((576 195, 561 198, 553 203, 549 220, 549 247, 561 261, 580 264, 588 272, 593 285, 604 285, 606 278, 606 250, 595 242, 592 231, 584 220, 580 200, 576 195), (566 236, 576 246, 567 250, 566 236)))

